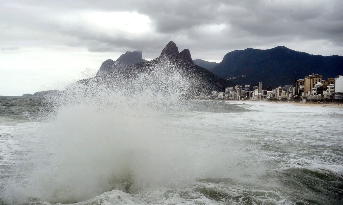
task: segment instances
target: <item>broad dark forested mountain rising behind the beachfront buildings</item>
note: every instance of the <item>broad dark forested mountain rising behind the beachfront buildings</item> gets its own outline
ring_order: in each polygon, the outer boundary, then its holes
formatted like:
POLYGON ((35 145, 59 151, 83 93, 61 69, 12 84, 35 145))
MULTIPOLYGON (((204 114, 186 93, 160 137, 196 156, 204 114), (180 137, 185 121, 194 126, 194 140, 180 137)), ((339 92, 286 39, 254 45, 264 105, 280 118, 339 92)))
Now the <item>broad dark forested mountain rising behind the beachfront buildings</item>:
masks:
POLYGON ((283 86, 311 73, 323 80, 343 73, 343 56, 310 55, 284 46, 260 50, 247 48, 226 53, 211 71, 234 84, 283 86))

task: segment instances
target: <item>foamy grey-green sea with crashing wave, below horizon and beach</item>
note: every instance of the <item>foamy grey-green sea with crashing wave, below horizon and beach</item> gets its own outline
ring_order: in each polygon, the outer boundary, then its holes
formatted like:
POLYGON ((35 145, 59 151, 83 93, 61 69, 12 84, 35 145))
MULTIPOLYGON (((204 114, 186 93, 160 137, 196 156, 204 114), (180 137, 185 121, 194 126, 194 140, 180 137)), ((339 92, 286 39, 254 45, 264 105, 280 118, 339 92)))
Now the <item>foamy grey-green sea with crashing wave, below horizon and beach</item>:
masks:
POLYGON ((76 98, 0 96, 0 204, 343 204, 341 108, 76 98))

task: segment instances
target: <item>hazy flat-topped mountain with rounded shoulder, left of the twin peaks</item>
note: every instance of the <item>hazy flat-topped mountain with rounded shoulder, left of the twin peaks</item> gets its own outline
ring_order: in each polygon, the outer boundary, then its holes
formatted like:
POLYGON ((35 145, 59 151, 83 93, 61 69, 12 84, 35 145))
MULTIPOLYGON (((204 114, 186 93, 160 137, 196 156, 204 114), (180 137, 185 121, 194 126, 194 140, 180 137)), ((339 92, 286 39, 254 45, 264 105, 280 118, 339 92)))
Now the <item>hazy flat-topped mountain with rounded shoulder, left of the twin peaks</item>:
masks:
POLYGON ((109 72, 120 72, 122 68, 139 62, 146 62, 142 58, 142 51, 126 51, 126 53, 119 56, 117 61, 111 59, 104 61, 96 76, 106 75, 109 72))

